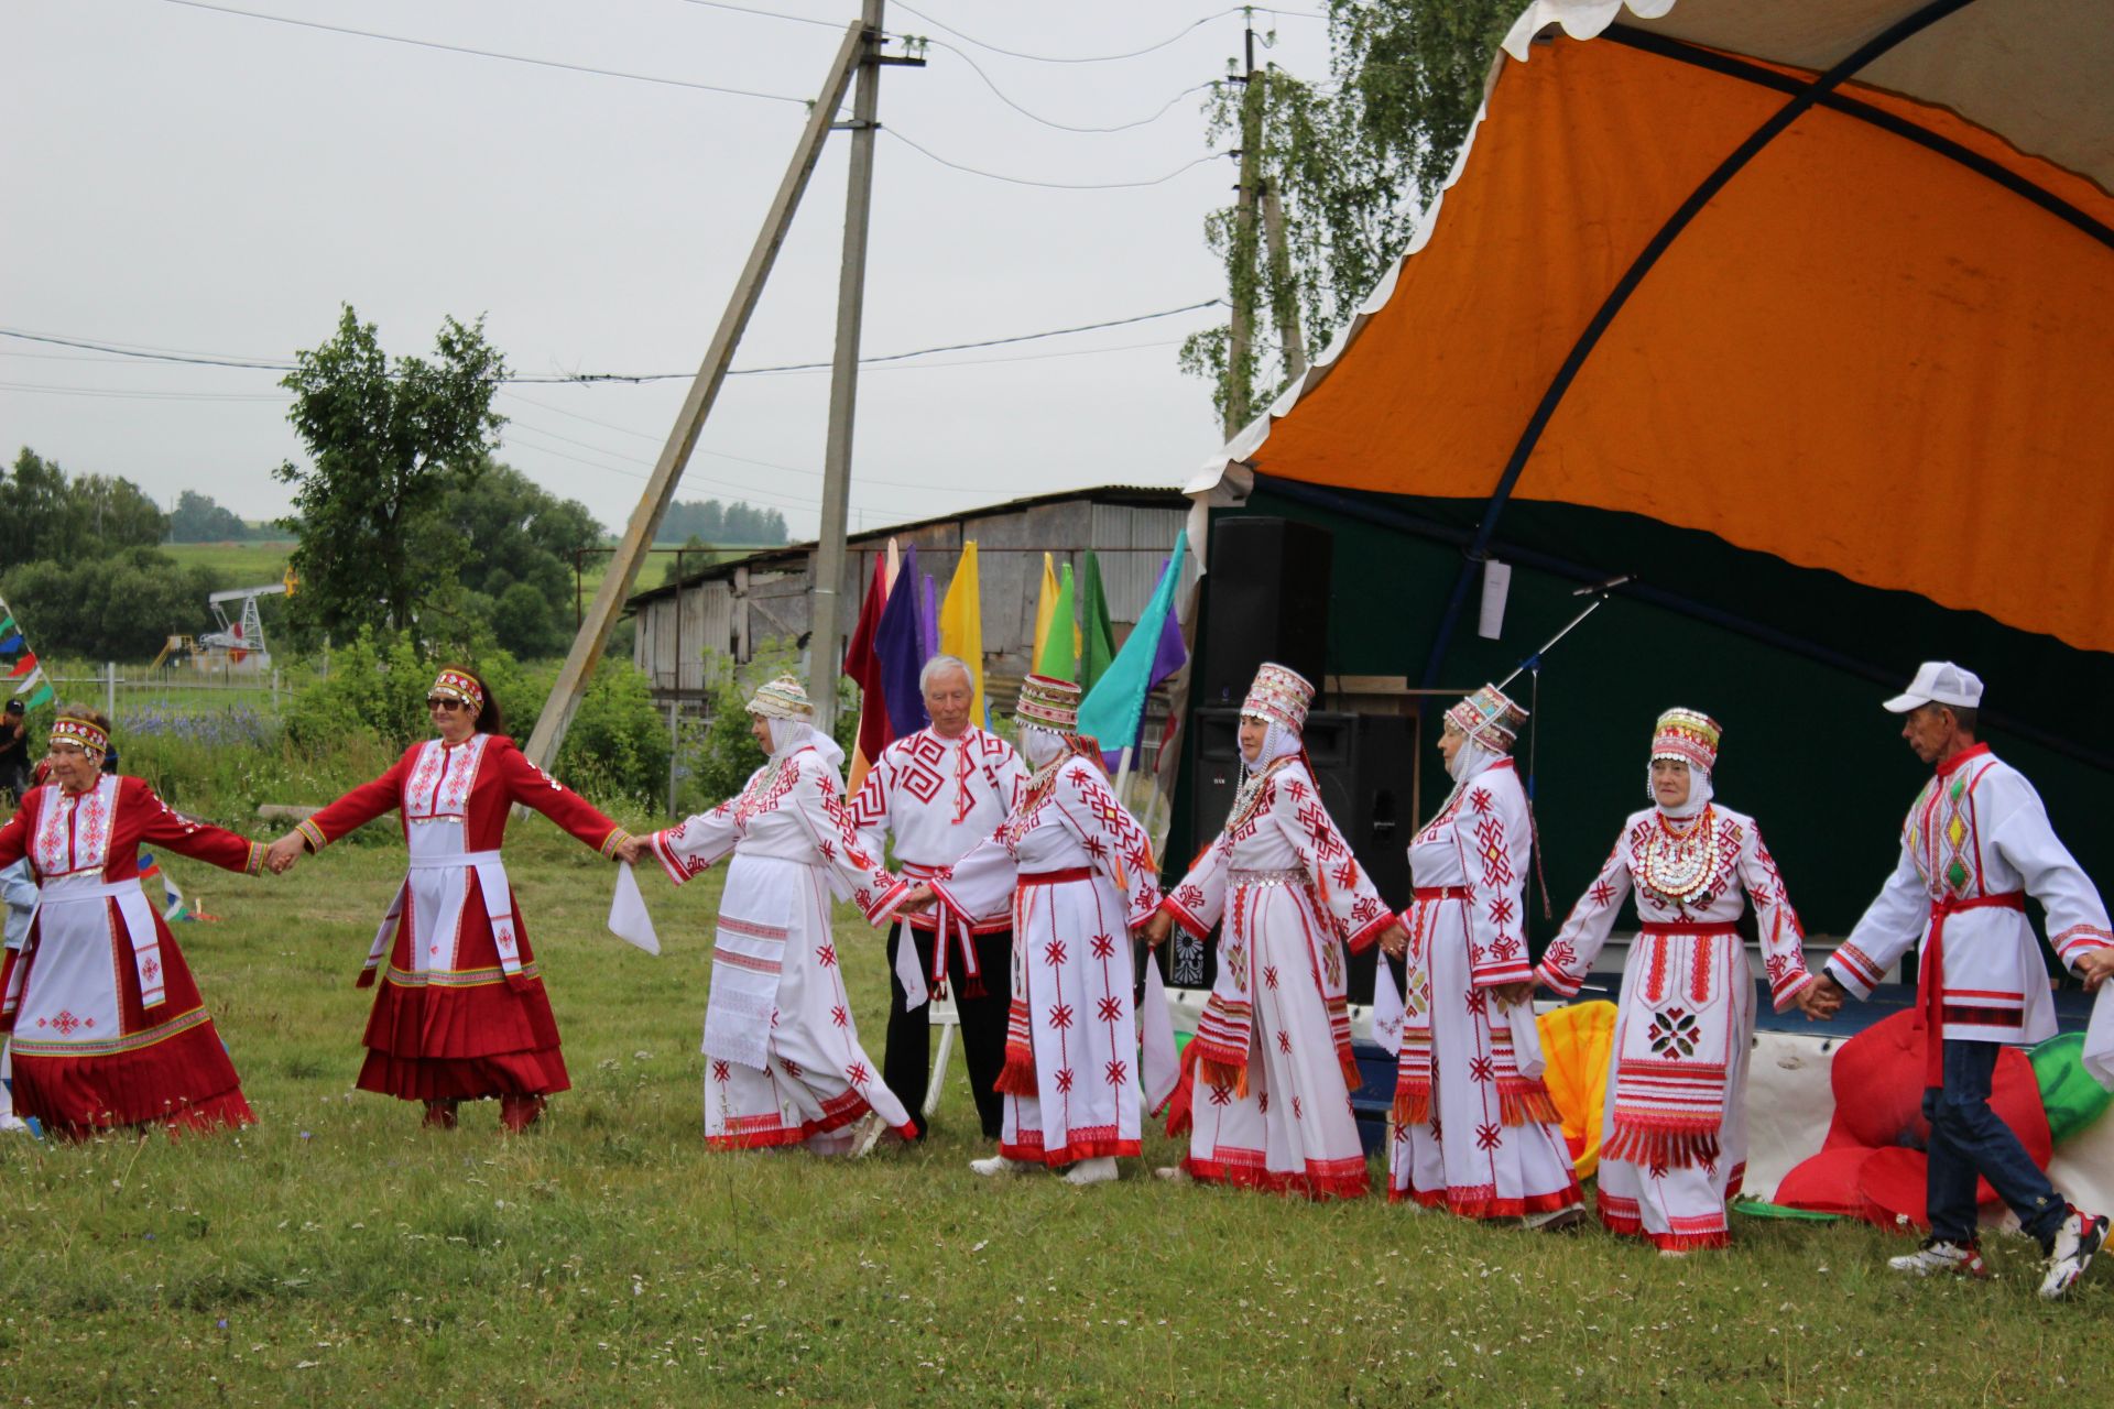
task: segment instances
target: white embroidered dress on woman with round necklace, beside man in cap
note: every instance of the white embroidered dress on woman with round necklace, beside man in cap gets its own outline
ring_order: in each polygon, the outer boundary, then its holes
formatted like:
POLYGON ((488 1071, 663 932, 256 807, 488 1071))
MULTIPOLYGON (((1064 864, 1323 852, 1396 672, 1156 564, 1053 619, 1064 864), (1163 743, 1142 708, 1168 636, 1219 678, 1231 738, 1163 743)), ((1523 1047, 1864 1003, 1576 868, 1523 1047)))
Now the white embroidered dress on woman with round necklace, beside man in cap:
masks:
POLYGON ((1778 1012, 1814 982, 1803 929, 1755 820, 1719 803, 1634 813, 1537 978, 1571 997, 1636 887, 1643 934, 1621 972, 1600 1145, 1600 1221, 1659 1248, 1725 1246, 1746 1172, 1755 978, 1733 921, 1755 906, 1778 1012))

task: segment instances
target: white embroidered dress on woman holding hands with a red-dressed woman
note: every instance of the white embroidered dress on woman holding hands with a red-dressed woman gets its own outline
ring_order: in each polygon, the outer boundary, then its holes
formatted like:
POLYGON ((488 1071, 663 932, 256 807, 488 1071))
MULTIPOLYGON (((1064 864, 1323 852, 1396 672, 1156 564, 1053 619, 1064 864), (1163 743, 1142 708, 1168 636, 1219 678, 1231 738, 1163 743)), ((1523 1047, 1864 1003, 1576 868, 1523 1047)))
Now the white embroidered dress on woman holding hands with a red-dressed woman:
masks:
POLYGON ((734 856, 704 1014, 704 1132, 715 1147, 820 1149, 867 1109, 911 1134, 858 1046, 829 925, 831 896, 879 921, 909 887, 860 845, 841 799, 837 769, 797 748, 757 769, 740 796, 649 839, 679 885, 734 856))

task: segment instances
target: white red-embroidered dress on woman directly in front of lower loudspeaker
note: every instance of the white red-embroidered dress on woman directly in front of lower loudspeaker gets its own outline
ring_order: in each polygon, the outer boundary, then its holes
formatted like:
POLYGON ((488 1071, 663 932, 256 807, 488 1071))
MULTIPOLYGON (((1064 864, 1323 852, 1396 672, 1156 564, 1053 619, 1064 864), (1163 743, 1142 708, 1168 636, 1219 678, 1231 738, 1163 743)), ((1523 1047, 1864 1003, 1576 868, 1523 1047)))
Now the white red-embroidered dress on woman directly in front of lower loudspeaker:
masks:
POLYGON ((1220 925, 1218 982, 1175 1096, 1184 1168, 1311 1198, 1366 1194, 1345 942, 1372 944, 1393 915, 1298 756, 1268 765, 1161 908, 1197 938, 1220 925))

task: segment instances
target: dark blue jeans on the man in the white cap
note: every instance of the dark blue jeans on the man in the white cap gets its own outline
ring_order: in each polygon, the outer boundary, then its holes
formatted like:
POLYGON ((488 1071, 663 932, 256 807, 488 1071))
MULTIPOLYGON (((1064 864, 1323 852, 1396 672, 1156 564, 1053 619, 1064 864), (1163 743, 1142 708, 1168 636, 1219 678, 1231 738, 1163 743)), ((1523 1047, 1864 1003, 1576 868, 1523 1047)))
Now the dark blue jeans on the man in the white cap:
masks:
POLYGON ((1930 1234, 1974 1242, 1974 1177, 1998 1191, 2019 1225, 2046 1248, 2070 1217, 2070 1204, 2040 1172, 2025 1145, 1989 1109, 1996 1077, 1996 1041, 1945 1041, 1945 1086, 1924 1090, 1930 1122, 1930 1234))

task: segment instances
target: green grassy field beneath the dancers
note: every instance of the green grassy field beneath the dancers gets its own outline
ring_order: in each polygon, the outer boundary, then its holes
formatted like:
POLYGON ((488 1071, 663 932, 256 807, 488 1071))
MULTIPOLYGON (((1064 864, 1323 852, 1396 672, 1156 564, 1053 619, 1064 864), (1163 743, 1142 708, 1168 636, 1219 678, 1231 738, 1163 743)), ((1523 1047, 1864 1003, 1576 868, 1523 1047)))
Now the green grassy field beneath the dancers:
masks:
MULTIPOLYGON (((600 929, 609 870, 586 849, 531 820, 507 862, 575 1084, 524 1139, 490 1105, 440 1134, 351 1090, 351 978, 397 847, 277 881, 169 864, 224 917, 178 940, 262 1124, 0 1141, 0 1401, 2101 1403, 2114 1278, 2042 1305, 2017 1240, 1994 1284, 1905 1284, 1879 1265, 1903 1244, 1848 1225, 1740 1223, 1729 1255, 1670 1261, 1137 1168, 987 1183, 964 1168, 983 1151, 960 1060, 926 1147, 706 1153, 719 872, 649 879, 651 959, 600 929)), ((879 1056, 882 948, 839 934, 879 1056)), ((1175 1153, 1152 1139, 1146 1162, 1175 1153)))

